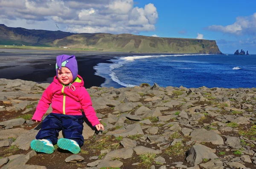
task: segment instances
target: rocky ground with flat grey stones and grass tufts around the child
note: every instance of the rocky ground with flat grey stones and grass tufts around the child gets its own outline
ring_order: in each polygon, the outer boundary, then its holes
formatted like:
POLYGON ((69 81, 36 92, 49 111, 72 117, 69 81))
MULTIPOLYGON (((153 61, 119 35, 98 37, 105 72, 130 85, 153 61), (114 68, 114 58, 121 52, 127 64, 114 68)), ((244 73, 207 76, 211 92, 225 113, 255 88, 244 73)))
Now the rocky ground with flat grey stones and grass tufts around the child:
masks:
POLYGON ((49 155, 29 147, 40 129, 31 118, 48 85, 0 79, 2 169, 256 168, 256 88, 91 87, 105 130, 85 119, 81 152, 55 145, 49 155))

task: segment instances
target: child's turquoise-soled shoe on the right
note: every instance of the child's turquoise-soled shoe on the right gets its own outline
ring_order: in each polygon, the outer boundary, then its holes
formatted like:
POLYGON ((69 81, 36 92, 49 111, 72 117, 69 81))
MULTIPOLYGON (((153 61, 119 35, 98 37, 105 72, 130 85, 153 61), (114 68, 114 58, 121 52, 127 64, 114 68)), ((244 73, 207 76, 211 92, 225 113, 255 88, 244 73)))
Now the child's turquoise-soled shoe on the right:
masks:
POLYGON ((60 149, 66 149, 73 154, 77 154, 80 152, 80 147, 76 141, 67 138, 60 138, 57 144, 60 149))

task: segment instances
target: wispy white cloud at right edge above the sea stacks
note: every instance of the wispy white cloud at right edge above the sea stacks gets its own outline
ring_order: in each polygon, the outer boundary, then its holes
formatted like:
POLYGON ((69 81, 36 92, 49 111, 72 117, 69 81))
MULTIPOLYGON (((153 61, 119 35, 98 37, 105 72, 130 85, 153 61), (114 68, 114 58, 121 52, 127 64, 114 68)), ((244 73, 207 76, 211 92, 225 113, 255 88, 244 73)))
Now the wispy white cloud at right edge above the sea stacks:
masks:
POLYGON ((236 22, 227 25, 211 25, 208 26, 208 29, 211 31, 220 31, 223 33, 229 33, 229 34, 250 34, 255 35, 256 34, 256 13, 253 15, 247 16, 247 17, 236 17, 236 22))

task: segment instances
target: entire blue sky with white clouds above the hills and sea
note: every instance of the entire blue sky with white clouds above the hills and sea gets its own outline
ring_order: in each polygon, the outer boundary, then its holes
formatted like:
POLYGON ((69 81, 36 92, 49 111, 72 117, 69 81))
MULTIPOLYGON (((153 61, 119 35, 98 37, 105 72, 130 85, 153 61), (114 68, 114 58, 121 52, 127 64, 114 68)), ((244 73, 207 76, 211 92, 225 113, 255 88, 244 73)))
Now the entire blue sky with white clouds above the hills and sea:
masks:
POLYGON ((256 54, 255 6, 254 0, 0 0, 0 23, 75 33, 209 39, 216 40, 224 54, 237 49, 256 54))

